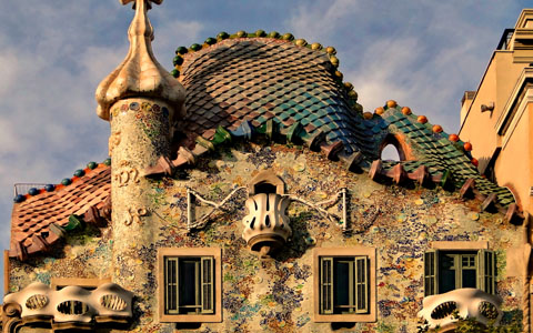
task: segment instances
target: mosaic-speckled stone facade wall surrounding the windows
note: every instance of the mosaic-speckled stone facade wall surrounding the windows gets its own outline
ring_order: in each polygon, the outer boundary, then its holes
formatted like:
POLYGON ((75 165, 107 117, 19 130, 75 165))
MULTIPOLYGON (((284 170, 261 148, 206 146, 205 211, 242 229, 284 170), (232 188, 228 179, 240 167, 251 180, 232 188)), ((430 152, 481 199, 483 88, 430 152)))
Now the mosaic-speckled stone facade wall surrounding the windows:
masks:
MULTIPOLYGON (((522 242, 521 228, 503 222, 502 214, 480 212, 480 201, 464 201, 457 192, 383 185, 301 147, 254 143, 212 153, 194 169, 179 171, 174 178, 150 180, 150 184, 144 193, 150 218, 135 230, 145 233, 139 240, 151 238, 154 242, 131 242, 131 236, 111 234, 110 228, 87 229, 68 236, 64 246, 47 258, 23 263, 11 259, 10 291, 33 281, 50 283, 54 276, 121 275, 135 292, 132 332, 188 332, 184 326, 159 323, 158 310, 150 305, 158 303, 157 251, 214 246, 222 249, 222 263, 218 264, 222 264, 223 321, 202 324, 191 332, 416 332, 416 313, 424 297, 424 251, 431 249, 432 241, 484 240, 496 253, 496 289, 503 297, 505 320, 520 315, 522 282, 506 275, 505 255, 522 242), (350 232, 343 233, 341 223, 292 202, 286 211, 290 241, 272 259, 260 259, 241 238, 248 195, 240 190, 214 212, 204 229, 188 233, 187 189, 221 202, 262 170, 272 170, 285 182, 285 193, 308 202, 326 200, 346 188, 350 232), (130 243, 124 244, 124 240, 130 243), (122 253, 113 252, 117 243, 122 253), (376 289, 378 321, 345 329, 313 322, 313 249, 353 245, 376 249, 376 281, 372 287, 376 289), (115 268, 120 272, 113 272, 111 262, 122 263, 115 268), (135 271, 147 274, 135 276, 135 271)), ((197 220, 210 210, 197 201, 197 220)), ((342 216, 342 202, 328 212, 342 216)), ((119 222, 113 220, 113 224, 119 222)))

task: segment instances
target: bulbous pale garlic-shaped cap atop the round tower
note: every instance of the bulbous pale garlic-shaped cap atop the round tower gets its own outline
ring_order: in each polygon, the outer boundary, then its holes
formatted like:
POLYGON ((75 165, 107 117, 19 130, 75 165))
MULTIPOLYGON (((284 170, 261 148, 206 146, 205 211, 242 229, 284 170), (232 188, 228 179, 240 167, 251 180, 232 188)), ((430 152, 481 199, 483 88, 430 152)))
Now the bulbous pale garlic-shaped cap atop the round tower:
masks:
POLYGON ((183 117, 185 89, 155 60, 152 52, 153 28, 147 11, 151 9, 151 2, 160 4, 163 0, 119 1, 122 4, 135 1, 135 16, 128 30, 130 50, 122 63, 98 85, 98 117, 109 121, 109 110, 117 101, 142 97, 162 100, 172 107, 171 113, 183 117))

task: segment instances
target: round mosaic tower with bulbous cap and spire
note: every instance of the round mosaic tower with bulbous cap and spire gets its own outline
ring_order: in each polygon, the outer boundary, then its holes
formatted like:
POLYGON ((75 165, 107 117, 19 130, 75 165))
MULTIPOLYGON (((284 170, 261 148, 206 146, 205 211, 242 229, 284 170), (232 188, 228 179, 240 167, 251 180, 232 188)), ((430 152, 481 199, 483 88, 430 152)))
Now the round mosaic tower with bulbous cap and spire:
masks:
MULTIPOLYGON (((133 0, 120 0, 125 4, 133 0)), ((147 17, 151 2, 135 0, 135 16, 128 31, 130 50, 122 63, 97 89, 100 118, 111 123, 111 201, 113 282, 143 294, 153 283, 153 268, 139 261, 139 250, 154 241, 152 191, 142 170, 169 154, 172 121, 184 115, 184 88, 155 60, 153 29, 147 17)), ((153 304, 142 304, 152 306, 153 304)))

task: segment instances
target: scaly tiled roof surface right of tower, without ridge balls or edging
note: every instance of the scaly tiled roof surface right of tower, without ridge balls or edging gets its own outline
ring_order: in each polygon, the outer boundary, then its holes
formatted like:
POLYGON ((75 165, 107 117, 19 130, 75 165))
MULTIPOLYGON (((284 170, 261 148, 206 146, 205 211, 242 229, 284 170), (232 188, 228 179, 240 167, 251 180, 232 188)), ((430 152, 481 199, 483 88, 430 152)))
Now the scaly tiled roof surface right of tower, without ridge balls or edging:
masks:
POLYGON ((502 203, 513 200, 507 189, 481 178, 460 143, 450 142, 446 132, 433 133, 432 124, 419 123, 415 114, 405 117, 401 107, 372 120, 355 113, 346 91, 328 70, 325 52, 251 36, 182 54, 180 80, 192 95, 185 102, 183 128, 192 134, 212 132, 220 123, 238 127, 243 119, 259 124, 273 119, 282 128, 299 121, 323 130, 330 142, 341 140, 348 153, 362 151, 370 163, 379 158, 382 140, 400 132, 418 159, 402 162, 408 172, 420 165, 432 174, 450 170, 459 181, 474 178, 480 191, 497 191, 502 203))

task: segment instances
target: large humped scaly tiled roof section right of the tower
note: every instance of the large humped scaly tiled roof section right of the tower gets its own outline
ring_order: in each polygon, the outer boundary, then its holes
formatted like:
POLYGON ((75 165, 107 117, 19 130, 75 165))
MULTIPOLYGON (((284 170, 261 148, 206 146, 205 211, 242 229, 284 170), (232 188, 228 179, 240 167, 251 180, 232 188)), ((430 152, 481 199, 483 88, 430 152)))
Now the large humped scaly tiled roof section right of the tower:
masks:
POLYGON ((331 54, 257 34, 262 36, 222 33, 203 46, 178 48, 174 63, 187 89, 188 114, 177 129, 189 142, 198 134, 211 139, 219 125, 235 130, 243 121, 261 127, 274 119, 284 129, 301 121, 311 134, 320 129, 329 142, 343 141, 349 153, 375 158, 368 133, 359 134, 365 128, 356 92, 339 78, 331 54))

